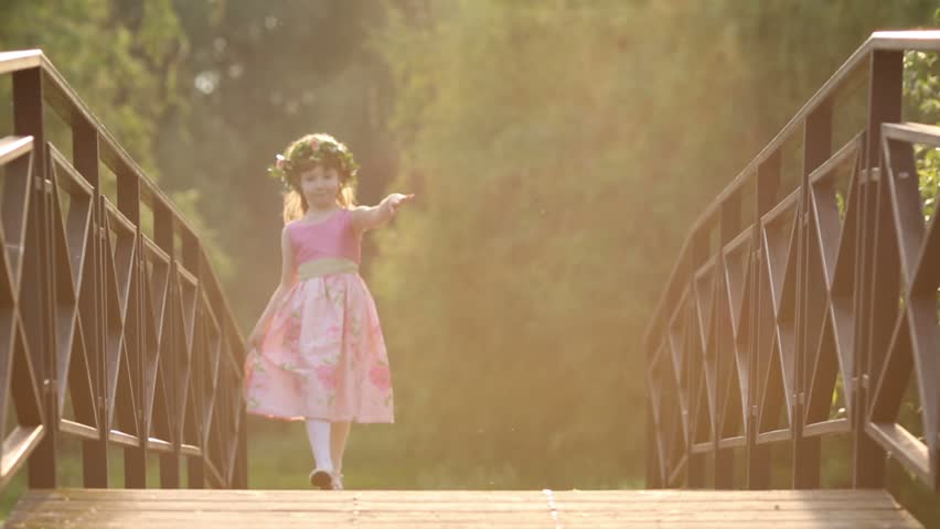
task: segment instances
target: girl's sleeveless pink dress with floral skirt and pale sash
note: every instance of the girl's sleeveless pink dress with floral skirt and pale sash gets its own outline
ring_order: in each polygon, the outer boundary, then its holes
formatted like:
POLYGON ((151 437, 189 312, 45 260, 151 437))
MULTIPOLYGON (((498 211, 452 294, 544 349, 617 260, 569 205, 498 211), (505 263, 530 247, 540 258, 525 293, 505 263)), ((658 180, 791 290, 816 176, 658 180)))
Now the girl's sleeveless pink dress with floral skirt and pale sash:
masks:
POLYGON ((245 361, 248 413, 394 422, 392 376, 375 302, 357 272, 352 212, 287 233, 297 282, 245 361))

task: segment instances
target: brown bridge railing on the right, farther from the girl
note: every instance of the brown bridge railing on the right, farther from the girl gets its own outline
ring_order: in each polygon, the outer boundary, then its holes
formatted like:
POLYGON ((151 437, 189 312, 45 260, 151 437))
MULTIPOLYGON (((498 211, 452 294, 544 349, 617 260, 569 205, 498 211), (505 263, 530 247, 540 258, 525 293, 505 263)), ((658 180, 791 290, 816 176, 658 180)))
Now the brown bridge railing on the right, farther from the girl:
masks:
POLYGON ((918 186, 940 128, 902 122, 905 52, 938 50, 874 33, 693 225, 644 338, 650 487, 769 488, 772 446, 818 488, 841 436, 852 486, 883 488, 891 456, 940 490, 940 215, 918 186))

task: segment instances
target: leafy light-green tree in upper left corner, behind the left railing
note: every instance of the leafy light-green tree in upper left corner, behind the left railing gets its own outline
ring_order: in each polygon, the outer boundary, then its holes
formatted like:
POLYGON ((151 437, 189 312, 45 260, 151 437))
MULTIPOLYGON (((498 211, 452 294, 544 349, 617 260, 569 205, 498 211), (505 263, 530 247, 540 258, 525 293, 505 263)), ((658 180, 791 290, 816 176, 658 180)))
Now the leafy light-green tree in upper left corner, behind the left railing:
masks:
MULTIPOLYGON (((186 105, 177 84, 188 41, 170 0, 9 0, 2 14, 0 50, 41 48, 118 143, 161 183, 215 260, 224 263, 215 231, 199 210, 199 192, 163 185, 163 164, 154 152, 161 123, 186 105)), ((9 84, 0 85, 0 98, 11 100, 9 84)), ((70 153, 71 131, 54 112, 47 116, 49 138, 70 153)), ((12 132, 10 107, 0 109, 0 123, 10 123, 7 133, 12 132)), ((116 201, 113 177, 103 175, 103 192, 116 201)))

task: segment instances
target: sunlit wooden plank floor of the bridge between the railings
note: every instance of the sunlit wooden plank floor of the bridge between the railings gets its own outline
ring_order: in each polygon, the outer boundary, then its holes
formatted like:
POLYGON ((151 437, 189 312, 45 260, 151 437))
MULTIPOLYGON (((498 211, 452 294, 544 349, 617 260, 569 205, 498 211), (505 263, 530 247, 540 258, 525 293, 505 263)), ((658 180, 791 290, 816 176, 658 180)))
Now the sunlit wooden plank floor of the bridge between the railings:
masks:
POLYGON ((13 528, 920 528, 883 490, 31 490, 13 528))

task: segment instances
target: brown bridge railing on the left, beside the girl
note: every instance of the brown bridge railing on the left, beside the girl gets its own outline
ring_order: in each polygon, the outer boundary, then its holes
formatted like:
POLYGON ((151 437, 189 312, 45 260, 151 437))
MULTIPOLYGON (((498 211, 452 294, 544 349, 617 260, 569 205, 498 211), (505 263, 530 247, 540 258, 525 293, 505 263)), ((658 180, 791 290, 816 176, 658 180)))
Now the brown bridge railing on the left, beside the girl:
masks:
POLYGON ((109 446, 126 487, 149 455, 162 487, 183 464, 191 488, 245 487, 245 344, 205 247, 41 51, 0 53, 0 487, 26 463, 55 487, 65 436, 86 487, 109 446))

